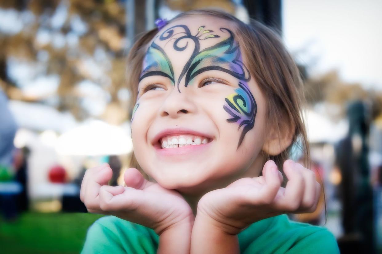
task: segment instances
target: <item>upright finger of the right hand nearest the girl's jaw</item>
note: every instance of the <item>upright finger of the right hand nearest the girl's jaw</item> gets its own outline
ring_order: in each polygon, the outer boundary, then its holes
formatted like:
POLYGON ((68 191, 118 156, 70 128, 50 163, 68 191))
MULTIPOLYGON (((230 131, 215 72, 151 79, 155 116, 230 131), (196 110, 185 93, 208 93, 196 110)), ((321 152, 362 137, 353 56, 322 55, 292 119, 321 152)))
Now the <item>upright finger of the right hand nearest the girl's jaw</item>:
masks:
POLYGON ((274 161, 269 160, 265 163, 263 168, 263 176, 265 185, 259 191, 259 194, 262 196, 262 200, 265 204, 270 204, 273 202, 281 186, 278 169, 274 161))

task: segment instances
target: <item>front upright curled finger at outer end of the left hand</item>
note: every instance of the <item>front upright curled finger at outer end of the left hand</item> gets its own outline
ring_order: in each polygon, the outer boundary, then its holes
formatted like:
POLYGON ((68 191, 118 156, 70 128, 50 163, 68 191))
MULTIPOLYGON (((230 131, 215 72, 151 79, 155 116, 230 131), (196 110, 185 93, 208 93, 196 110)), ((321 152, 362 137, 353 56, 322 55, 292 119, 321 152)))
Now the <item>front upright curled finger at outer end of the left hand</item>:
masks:
POLYGON ((99 189, 102 185, 107 185, 108 181, 112 178, 113 171, 111 168, 106 167, 95 172, 89 176, 85 191, 85 206, 88 209, 100 209, 99 207, 99 189))

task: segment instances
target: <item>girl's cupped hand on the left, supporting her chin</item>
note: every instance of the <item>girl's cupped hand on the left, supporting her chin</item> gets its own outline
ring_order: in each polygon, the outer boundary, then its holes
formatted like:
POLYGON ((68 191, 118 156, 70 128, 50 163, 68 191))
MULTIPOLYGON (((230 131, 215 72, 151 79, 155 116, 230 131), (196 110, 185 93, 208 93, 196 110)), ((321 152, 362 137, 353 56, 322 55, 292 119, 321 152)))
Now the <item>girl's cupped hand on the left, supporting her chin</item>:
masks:
POLYGON ((193 223, 193 212, 180 193, 147 181, 138 169, 125 171, 127 187, 107 185, 111 178, 107 163, 86 170, 80 199, 89 212, 117 216, 158 235, 177 224, 193 223))

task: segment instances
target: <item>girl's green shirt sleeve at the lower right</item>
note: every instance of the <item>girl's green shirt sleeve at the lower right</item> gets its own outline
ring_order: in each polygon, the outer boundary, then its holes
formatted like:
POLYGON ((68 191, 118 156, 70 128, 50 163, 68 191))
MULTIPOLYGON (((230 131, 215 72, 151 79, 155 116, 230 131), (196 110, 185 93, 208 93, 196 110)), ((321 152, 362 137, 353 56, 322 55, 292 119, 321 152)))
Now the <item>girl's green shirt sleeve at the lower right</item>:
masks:
POLYGON ((329 230, 322 228, 321 230, 305 236, 286 253, 339 254, 340 250, 333 234, 329 230))

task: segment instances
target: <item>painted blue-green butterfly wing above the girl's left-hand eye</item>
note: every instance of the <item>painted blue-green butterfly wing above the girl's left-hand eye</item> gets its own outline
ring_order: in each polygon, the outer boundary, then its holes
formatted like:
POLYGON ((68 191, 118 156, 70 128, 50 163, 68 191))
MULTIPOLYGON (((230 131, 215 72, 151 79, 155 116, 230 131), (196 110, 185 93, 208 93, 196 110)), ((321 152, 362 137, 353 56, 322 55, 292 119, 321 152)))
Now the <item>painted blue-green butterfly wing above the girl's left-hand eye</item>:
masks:
POLYGON ((156 43, 152 43, 147 49, 146 56, 143 61, 144 70, 139 77, 139 81, 149 76, 160 75, 167 77, 171 82, 175 83, 174 70, 170 59, 163 49, 156 43))

